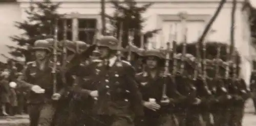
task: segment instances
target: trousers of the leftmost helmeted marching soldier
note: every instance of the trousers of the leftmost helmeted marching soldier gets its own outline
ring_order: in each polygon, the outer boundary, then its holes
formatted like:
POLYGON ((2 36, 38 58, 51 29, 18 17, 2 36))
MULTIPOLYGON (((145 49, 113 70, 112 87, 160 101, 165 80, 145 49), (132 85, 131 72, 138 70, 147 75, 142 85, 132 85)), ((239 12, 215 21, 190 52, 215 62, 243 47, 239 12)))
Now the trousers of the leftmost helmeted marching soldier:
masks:
POLYGON ((29 104, 28 113, 30 126, 51 126, 55 114, 55 105, 53 104, 29 104))

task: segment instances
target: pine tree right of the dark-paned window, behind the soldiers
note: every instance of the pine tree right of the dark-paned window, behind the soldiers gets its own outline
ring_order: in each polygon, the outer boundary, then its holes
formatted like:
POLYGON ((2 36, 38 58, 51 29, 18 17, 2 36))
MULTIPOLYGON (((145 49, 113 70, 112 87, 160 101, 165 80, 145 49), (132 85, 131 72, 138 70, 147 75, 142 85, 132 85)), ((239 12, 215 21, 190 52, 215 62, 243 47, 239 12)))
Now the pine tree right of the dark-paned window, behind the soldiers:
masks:
MULTIPOLYGON (((120 26, 122 24, 122 47, 126 47, 128 44, 129 31, 133 31, 134 33, 133 44, 141 47, 141 32, 143 22, 145 22, 142 14, 152 6, 152 3, 139 7, 134 0, 124 0, 122 3, 113 0, 111 4, 115 8, 115 12, 113 16, 106 15, 106 17, 110 18, 110 25, 112 27, 107 33, 117 35, 117 38, 119 38, 120 26)), ((147 39, 152 37, 153 34, 156 34, 158 30, 155 29, 144 33, 143 43, 147 43, 147 39)))

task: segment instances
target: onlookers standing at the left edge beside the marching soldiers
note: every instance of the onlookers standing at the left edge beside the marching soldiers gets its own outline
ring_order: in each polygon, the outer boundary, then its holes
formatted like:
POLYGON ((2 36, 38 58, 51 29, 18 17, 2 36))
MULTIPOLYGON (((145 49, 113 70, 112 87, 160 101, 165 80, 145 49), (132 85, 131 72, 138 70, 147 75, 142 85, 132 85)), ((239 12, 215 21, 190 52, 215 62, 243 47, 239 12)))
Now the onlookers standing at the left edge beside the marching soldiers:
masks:
POLYGON ((11 69, 0 72, 0 116, 14 116, 27 112, 26 90, 18 86, 19 84, 10 85, 13 77, 17 75, 17 71, 13 72, 11 69))

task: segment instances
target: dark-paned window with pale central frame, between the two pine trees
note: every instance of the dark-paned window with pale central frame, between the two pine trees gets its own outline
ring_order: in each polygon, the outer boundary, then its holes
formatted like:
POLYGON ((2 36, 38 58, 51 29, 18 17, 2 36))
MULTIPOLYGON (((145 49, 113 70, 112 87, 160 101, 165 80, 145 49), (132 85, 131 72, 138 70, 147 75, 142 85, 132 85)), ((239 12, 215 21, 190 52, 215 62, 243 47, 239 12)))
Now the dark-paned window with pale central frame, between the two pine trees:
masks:
POLYGON ((58 20, 58 40, 83 41, 87 44, 93 43, 97 30, 97 17, 80 14, 68 15, 65 19, 58 20), (88 18, 89 17, 89 18, 88 18), (66 29, 66 30, 65 30, 66 29))

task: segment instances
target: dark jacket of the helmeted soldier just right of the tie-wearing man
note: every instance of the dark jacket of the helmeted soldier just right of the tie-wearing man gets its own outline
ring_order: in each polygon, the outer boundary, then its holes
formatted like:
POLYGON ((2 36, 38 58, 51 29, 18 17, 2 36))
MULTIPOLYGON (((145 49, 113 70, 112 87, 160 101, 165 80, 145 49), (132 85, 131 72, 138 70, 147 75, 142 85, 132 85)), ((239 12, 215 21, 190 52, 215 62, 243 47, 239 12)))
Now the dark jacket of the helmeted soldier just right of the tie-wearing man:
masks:
POLYGON ((145 115, 159 115, 163 113, 170 113, 174 109, 174 103, 179 101, 181 97, 180 93, 177 91, 176 83, 167 76, 164 77, 162 73, 158 72, 156 77, 153 78, 150 73, 142 72, 137 74, 137 80, 140 82, 140 91, 142 93, 143 101, 148 101, 149 99, 155 99, 157 104, 161 106, 160 110, 157 112, 144 108, 145 115), (160 103, 163 95, 163 86, 166 84, 166 96, 170 99, 169 105, 163 105, 160 103))

